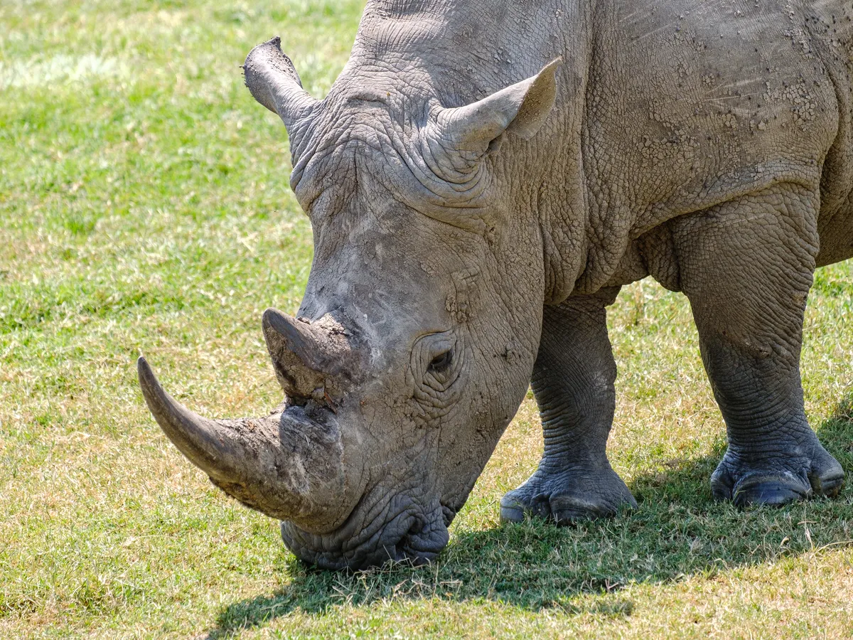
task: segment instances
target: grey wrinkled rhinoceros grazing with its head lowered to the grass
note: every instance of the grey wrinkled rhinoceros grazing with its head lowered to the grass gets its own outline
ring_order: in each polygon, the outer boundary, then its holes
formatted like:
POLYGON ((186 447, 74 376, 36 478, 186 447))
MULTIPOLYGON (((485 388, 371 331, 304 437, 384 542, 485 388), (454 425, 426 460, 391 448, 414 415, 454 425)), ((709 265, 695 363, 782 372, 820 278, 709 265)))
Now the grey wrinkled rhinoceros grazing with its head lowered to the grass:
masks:
POLYGON ((651 275, 688 296, 728 428, 714 495, 836 495, 799 353, 815 267, 853 256, 850 15, 375 0, 322 102, 259 45, 316 247, 300 319, 264 315, 287 402, 206 421, 141 361, 154 416, 320 567, 436 556, 529 383, 545 451, 502 518, 612 515, 605 307, 651 275))

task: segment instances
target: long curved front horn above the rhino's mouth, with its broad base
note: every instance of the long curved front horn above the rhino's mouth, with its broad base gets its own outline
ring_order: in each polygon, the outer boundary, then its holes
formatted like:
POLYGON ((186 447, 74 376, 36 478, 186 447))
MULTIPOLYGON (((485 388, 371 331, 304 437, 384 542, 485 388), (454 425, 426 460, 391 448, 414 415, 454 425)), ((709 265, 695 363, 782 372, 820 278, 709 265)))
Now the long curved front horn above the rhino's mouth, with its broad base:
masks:
POLYGON ((208 420, 165 393, 145 358, 137 371, 160 428, 229 496, 307 532, 333 531, 349 515, 358 491, 347 481, 334 417, 320 424, 291 407, 261 418, 208 420))

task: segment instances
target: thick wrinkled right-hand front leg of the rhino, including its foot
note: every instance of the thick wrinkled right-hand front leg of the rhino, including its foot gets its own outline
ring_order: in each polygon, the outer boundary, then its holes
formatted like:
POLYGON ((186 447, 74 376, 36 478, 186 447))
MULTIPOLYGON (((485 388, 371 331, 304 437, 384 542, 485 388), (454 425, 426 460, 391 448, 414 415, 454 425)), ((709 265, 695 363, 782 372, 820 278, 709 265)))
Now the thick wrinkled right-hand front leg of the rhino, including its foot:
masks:
POLYGON ((682 218, 682 289, 726 422, 717 499, 786 504, 838 494, 844 473, 809 428, 799 360, 818 248, 818 198, 780 184, 682 218))

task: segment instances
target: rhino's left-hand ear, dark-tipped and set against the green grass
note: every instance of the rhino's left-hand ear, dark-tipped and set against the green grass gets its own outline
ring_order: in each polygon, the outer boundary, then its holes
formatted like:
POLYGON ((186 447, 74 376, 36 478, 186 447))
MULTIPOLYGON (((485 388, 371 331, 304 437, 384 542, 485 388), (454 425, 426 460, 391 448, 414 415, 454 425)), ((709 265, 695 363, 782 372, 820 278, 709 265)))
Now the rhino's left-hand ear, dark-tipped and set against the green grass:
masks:
POLYGON ((281 51, 278 36, 249 52, 243 65, 243 77, 255 100, 278 114, 292 140, 299 125, 319 104, 302 88, 299 73, 281 51))

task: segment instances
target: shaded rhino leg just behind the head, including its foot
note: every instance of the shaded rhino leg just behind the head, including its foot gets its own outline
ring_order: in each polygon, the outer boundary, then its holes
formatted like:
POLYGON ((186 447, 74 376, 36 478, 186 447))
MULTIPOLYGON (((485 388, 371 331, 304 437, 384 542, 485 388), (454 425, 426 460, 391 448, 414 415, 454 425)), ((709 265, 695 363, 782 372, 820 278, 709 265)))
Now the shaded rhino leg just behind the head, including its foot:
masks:
POLYGON ((536 473, 502 498, 502 521, 529 514, 567 524, 636 506, 605 451, 616 402, 605 307, 616 294, 608 288, 544 308, 531 386, 545 448, 536 473))

